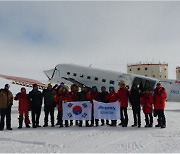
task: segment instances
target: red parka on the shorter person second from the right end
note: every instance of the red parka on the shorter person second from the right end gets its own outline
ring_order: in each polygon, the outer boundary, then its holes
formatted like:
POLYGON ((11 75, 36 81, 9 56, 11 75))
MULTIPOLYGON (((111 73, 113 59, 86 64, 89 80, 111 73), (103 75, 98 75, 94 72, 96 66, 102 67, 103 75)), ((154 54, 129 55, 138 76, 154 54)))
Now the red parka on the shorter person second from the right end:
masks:
POLYGON ((153 96, 152 94, 143 94, 140 98, 141 104, 143 106, 144 114, 150 114, 153 112, 153 96))

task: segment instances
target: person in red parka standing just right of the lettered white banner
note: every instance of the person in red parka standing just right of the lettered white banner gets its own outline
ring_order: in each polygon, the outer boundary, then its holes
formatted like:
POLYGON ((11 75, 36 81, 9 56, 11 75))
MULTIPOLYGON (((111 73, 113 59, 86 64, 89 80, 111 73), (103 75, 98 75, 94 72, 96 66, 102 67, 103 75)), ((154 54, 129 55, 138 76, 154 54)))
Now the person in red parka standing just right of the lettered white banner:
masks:
POLYGON ((120 89, 118 90, 118 100, 120 102, 120 113, 121 113, 121 123, 122 127, 127 127, 128 125, 128 100, 129 100, 129 90, 126 88, 126 84, 124 80, 119 82, 120 89))

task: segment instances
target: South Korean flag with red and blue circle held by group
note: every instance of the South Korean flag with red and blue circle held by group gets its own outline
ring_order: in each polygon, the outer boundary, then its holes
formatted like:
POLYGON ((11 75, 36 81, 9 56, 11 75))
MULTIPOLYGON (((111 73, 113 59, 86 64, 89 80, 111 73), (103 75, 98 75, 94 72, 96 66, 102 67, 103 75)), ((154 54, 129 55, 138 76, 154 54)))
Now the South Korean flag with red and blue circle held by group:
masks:
POLYGON ((63 120, 91 120, 90 101, 63 103, 63 120))

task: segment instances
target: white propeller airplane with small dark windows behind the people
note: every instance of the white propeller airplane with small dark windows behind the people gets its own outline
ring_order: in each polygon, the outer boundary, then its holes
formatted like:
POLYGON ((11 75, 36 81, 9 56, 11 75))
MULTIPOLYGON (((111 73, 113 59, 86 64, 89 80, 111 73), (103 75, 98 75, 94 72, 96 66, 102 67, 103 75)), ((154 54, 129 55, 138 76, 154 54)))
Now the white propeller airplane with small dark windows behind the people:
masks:
MULTIPOLYGON (((120 80, 124 80, 126 85, 128 85, 130 88, 133 84, 136 84, 138 86, 141 85, 143 89, 149 88, 151 91, 153 91, 153 89, 156 87, 156 84, 160 82, 161 85, 166 89, 168 95, 167 101, 180 102, 180 81, 177 80, 157 79, 141 75, 85 67, 75 64, 58 64, 55 66, 55 68, 45 70, 43 72, 47 76, 49 83, 75 83, 80 87, 84 85, 89 88, 96 86, 99 91, 102 86, 105 86, 107 89, 113 86, 117 91, 119 89, 118 83, 120 80)), ((18 85, 32 86, 32 84, 36 83, 39 88, 46 88, 46 84, 37 80, 7 75, 0 75, 0 77, 12 80, 14 84, 18 85)))

